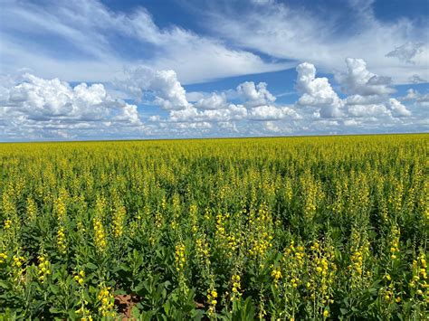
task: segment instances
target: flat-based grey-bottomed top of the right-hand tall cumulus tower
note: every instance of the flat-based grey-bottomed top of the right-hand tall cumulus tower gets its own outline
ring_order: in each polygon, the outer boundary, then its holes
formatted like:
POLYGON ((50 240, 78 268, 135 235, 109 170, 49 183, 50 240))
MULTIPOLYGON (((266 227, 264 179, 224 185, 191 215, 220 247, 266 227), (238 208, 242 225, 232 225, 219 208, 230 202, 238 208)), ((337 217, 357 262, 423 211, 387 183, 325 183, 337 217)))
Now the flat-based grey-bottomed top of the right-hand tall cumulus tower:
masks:
POLYGON ((395 92, 389 87, 391 80, 368 71, 367 62, 363 59, 347 58, 346 64, 348 71, 335 75, 335 79, 346 93, 371 96, 395 92))

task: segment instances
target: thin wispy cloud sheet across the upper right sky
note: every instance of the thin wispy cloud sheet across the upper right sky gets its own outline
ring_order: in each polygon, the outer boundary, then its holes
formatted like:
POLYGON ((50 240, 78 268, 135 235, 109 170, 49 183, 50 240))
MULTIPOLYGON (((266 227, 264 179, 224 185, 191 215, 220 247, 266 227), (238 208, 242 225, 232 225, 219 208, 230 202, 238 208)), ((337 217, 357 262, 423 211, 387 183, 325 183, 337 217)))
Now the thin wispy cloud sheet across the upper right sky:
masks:
POLYGON ((348 1, 332 7, 271 2, 239 14, 234 5, 223 5, 211 8, 205 24, 240 48, 295 63, 310 61, 324 72, 342 70, 345 57, 360 57, 395 84, 409 83, 413 75, 427 80, 428 51, 419 52, 428 46, 426 24, 409 19, 381 21, 372 4, 348 1), (405 42, 423 42, 424 47, 405 53, 405 61, 389 56, 389 52, 403 52, 398 45, 405 42))

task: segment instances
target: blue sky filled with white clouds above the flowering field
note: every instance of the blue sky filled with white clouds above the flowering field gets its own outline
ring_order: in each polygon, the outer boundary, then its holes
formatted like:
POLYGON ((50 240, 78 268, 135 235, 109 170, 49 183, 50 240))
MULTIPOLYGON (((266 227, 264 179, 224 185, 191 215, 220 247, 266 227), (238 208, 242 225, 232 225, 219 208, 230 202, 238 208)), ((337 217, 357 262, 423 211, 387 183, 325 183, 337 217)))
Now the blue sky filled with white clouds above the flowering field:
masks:
POLYGON ((0 0, 0 141, 429 131, 426 0, 0 0))

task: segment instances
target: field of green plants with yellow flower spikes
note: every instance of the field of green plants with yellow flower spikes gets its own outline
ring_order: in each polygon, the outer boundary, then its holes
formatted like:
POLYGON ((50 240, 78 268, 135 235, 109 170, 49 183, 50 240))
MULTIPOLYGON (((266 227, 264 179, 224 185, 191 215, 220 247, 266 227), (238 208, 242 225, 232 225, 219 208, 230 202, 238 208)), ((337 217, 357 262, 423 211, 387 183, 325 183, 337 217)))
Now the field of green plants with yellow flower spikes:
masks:
POLYGON ((429 135, 0 145, 0 319, 424 319, 429 135))

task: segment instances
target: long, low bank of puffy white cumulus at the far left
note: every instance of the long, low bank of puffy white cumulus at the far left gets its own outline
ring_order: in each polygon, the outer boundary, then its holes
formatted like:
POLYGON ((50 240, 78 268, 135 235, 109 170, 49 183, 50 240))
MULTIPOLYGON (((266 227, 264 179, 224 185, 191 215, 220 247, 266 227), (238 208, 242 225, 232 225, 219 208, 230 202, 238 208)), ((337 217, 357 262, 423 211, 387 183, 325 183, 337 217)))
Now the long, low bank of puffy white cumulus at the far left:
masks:
POLYGON ((129 123, 139 122, 137 107, 111 99, 102 84, 81 83, 71 88, 67 82, 44 80, 29 73, 24 74, 23 82, 8 90, 8 97, 1 104, 11 113, 34 120, 120 118, 129 123))

